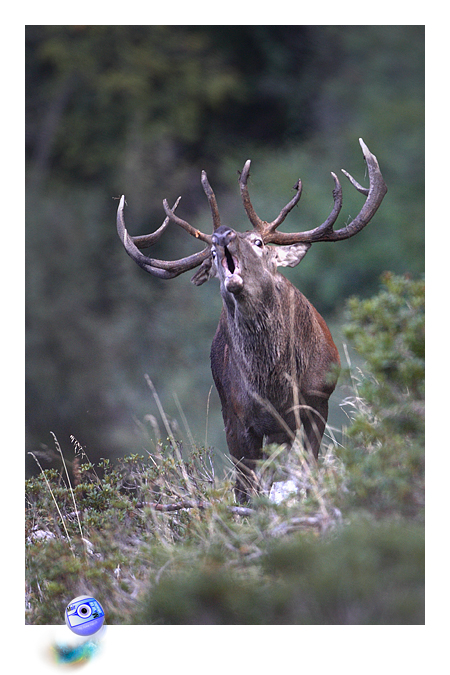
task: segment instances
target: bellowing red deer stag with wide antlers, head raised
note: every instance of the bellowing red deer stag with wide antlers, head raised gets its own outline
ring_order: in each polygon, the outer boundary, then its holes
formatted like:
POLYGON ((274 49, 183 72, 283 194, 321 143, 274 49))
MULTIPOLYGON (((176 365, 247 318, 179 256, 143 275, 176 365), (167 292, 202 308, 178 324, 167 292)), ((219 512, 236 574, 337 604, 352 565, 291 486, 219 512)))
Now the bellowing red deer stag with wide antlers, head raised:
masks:
POLYGON ((175 215, 164 200, 166 219, 153 234, 131 237, 125 229, 122 196, 117 211, 117 230, 127 253, 146 272, 161 279, 200 266, 192 277, 199 286, 217 276, 223 299, 219 325, 211 347, 211 368, 222 403, 228 448, 238 468, 236 497, 247 501, 258 491, 255 460, 262 458, 263 442, 292 444, 303 427, 304 439, 315 458, 328 417, 328 399, 338 372, 339 355, 330 331, 316 309, 277 267, 297 265, 311 244, 353 237, 374 216, 387 188, 376 157, 360 139, 369 172, 369 188, 362 187, 342 170, 352 185, 366 196, 360 213, 348 225, 334 230, 342 206, 342 189, 334 180, 334 206, 322 225, 297 233, 277 228, 298 204, 302 184, 295 185, 294 198, 271 223, 261 220, 250 201, 247 180, 250 160, 240 174, 244 208, 253 226, 237 232, 221 225, 214 192, 202 172, 202 185, 209 201, 213 234, 203 234, 175 215), (154 244, 173 222, 206 247, 181 260, 149 258, 139 249, 154 244), (269 246, 268 244, 276 244, 269 246))

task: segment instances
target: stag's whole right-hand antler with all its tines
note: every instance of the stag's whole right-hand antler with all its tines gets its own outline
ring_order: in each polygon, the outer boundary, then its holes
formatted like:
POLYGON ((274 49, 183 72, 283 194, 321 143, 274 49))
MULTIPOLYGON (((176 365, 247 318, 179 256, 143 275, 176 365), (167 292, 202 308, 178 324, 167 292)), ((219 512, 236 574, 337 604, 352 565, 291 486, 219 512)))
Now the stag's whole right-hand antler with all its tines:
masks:
POLYGON ((367 168, 369 170, 369 188, 362 187, 344 169, 342 169, 342 172, 347 176, 358 192, 362 192, 362 194, 367 196, 367 199, 356 218, 354 218, 346 227, 336 231, 333 230, 333 225, 336 222, 342 207, 342 188, 336 174, 333 172, 331 173, 335 186, 333 190, 333 209, 322 225, 319 225, 313 230, 307 230, 305 232, 296 232, 292 234, 287 232, 277 232, 277 227, 283 222, 287 214, 292 211, 294 206, 298 204, 302 191, 302 183, 300 180, 296 183, 295 189, 297 190, 297 194, 295 197, 291 199, 289 204, 286 204, 275 220, 273 220, 271 223, 268 223, 265 220, 261 220, 261 218, 259 218, 259 216, 255 213, 255 210, 250 201, 247 188, 247 180, 250 172, 250 160, 247 160, 239 178, 241 195, 244 202, 244 208, 250 222, 252 223, 255 230, 261 233, 266 244, 297 244, 301 242, 314 243, 317 241, 340 241, 342 239, 353 237, 367 225, 383 201, 383 197, 387 192, 387 187, 383 180, 383 176, 381 175, 377 158, 370 152, 362 138, 359 139, 359 143, 361 145, 364 159, 366 160, 367 168))

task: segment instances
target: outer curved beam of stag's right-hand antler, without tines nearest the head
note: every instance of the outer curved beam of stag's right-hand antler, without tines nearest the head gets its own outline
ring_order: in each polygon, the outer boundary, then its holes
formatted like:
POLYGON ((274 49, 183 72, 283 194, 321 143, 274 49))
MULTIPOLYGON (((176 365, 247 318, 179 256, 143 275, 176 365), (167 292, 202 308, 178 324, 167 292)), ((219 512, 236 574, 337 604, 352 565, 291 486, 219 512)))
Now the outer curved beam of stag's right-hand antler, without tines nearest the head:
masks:
MULTIPOLYGON (((318 241, 340 241, 349 239, 360 232, 367 223, 373 218, 378 207, 387 192, 387 187, 378 165, 377 158, 373 155, 362 138, 359 139, 364 159, 369 171, 369 188, 360 185, 347 171, 342 169, 352 185, 366 196, 366 201, 359 214, 346 226, 340 230, 333 230, 333 225, 337 220, 342 207, 342 188, 337 176, 332 173, 335 188, 333 190, 334 206, 330 215, 322 225, 307 230, 305 232, 296 232, 293 234, 284 232, 269 232, 266 241, 273 244, 297 244, 301 242, 318 241)), ((280 214, 281 215, 281 214, 280 214)))

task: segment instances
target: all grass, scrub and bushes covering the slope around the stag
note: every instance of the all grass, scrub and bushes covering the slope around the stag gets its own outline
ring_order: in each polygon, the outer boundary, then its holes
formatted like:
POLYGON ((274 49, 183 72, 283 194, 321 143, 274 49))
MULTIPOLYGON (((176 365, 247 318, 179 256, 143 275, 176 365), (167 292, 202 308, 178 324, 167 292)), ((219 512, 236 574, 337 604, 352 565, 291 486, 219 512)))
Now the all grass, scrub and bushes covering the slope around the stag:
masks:
POLYGON ((343 443, 268 447, 247 507, 162 409, 167 440, 114 464, 54 438, 62 471, 26 481, 26 622, 92 594, 111 624, 423 623, 423 284, 349 312, 343 443))

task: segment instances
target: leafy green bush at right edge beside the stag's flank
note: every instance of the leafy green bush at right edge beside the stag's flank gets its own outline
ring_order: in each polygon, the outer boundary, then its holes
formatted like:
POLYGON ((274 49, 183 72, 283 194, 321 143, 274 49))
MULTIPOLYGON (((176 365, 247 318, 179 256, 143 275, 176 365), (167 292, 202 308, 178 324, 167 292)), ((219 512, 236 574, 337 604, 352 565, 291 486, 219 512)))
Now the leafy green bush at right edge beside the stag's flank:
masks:
POLYGON ((422 514, 425 435, 425 284, 385 274, 381 292, 348 303, 344 334, 365 359, 354 374, 348 442, 339 453, 354 506, 422 514))

